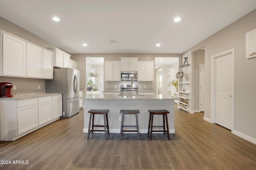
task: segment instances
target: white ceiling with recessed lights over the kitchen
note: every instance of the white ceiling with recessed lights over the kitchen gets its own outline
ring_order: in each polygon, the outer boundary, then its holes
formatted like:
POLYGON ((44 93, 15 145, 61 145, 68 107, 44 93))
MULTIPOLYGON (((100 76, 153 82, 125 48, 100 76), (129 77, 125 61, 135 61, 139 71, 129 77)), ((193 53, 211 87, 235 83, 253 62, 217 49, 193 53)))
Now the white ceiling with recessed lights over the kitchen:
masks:
POLYGON ((182 53, 255 8, 256 0, 0 0, 1 17, 68 53, 182 53))

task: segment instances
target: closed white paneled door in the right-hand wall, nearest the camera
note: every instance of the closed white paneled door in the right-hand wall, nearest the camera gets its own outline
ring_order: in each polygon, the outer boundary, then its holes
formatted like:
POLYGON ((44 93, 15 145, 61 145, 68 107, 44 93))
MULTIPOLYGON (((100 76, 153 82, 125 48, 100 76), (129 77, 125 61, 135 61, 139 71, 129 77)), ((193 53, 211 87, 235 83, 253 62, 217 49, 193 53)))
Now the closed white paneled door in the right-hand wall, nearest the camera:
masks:
POLYGON ((234 117, 234 49, 215 57, 215 123, 232 130, 234 117))

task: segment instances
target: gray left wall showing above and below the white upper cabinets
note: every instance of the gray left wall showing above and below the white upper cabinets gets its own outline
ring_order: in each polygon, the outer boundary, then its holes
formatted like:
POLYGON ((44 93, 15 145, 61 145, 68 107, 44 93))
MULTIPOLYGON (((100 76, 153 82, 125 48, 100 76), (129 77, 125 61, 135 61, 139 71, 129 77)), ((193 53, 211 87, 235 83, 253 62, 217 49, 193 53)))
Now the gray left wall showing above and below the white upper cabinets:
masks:
MULTIPOLYGON (((42 38, 35 36, 34 34, 20 28, 19 26, 5 20, 0 17, 0 29, 30 42, 41 45, 42 47, 54 47, 54 45, 46 42, 42 38)), ((38 85, 41 89, 45 89, 44 79, 31 79, 31 78, 16 78, 16 77, 0 77, 0 82, 10 82, 16 85, 17 90, 33 90, 38 89, 38 85)))

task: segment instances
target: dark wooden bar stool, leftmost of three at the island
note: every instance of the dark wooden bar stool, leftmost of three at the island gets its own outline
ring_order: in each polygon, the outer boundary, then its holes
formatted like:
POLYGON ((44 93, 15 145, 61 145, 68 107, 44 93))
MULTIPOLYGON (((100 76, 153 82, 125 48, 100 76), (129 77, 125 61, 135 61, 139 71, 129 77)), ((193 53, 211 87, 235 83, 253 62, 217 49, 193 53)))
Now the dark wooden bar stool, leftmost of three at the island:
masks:
POLYGON ((88 127, 88 135, 87 139, 90 137, 90 132, 105 132, 105 139, 107 140, 107 132, 109 133, 108 129, 108 112, 109 110, 97 110, 97 109, 91 109, 88 111, 90 113, 90 119, 89 119, 89 127, 88 127), (94 125, 94 115, 104 115, 104 125, 94 125), (92 121, 92 130, 91 128, 91 121, 92 121), (94 130, 94 127, 104 127, 104 130, 94 130))

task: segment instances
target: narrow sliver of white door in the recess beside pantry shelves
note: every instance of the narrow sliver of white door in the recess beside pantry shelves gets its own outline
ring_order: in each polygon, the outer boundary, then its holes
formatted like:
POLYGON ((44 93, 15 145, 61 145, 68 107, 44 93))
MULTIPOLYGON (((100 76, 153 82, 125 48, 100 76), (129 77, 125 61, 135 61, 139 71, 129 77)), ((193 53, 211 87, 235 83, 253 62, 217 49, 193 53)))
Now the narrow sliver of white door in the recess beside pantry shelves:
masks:
POLYGON ((199 65, 200 73, 199 73, 199 110, 200 112, 204 112, 204 98, 205 98, 205 83, 204 83, 204 64, 199 65))

